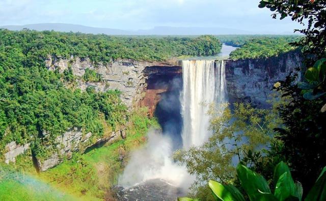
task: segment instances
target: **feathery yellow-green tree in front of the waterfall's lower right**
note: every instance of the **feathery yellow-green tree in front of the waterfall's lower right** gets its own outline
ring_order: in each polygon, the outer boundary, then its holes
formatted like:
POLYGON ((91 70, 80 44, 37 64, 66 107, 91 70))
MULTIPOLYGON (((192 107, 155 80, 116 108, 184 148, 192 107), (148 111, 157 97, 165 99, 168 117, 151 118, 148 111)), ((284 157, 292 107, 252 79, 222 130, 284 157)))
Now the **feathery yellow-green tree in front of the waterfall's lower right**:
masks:
POLYGON ((213 200, 207 194, 208 180, 236 183, 236 163, 253 166, 262 162, 262 152, 275 133, 273 128, 280 123, 273 110, 242 103, 233 106, 233 112, 229 107, 218 110, 210 106, 213 135, 208 142, 175 154, 188 172, 196 176, 192 190, 200 200, 213 200))

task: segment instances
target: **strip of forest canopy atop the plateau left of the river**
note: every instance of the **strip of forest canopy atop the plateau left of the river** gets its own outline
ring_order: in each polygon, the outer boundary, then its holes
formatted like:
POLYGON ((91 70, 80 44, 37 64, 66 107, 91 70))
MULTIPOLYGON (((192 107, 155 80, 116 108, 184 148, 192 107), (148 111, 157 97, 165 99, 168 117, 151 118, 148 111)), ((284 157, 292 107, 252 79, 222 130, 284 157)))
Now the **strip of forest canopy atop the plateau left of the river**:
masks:
MULTIPOLYGON (((109 63, 112 59, 161 61, 181 55, 204 56, 219 53, 220 41, 213 36, 200 37, 117 37, 57 31, 10 31, 0 29, 4 47, 19 47, 36 58, 47 55, 69 58, 71 55, 109 63)), ((4 50, 4 49, 2 49, 4 50)))

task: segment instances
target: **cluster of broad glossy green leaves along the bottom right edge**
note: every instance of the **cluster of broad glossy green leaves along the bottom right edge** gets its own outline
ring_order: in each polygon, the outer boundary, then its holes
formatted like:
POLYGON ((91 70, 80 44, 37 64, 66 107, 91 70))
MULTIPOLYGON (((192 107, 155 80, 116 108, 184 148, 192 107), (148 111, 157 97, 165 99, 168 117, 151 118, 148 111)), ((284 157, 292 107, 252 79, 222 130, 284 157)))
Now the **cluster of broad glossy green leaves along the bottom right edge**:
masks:
MULTIPOLYGON (((284 162, 280 162, 274 171, 274 180, 277 181, 274 193, 271 192, 266 180, 259 174, 250 170, 247 166, 239 163, 237 165, 237 175, 241 187, 246 191, 250 200, 265 201, 301 201, 303 188, 300 182, 294 183, 291 172, 284 162)), ((245 198, 241 192, 231 184, 223 184, 216 181, 209 181, 209 187, 215 197, 215 200, 222 201, 244 201, 245 198)), ((314 187, 310 190, 305 200, 321 201, 326 199, 326 167, 320 173, 314 187)), ((189 198, 179 198, 178 200, 188 200, 189 198)))

